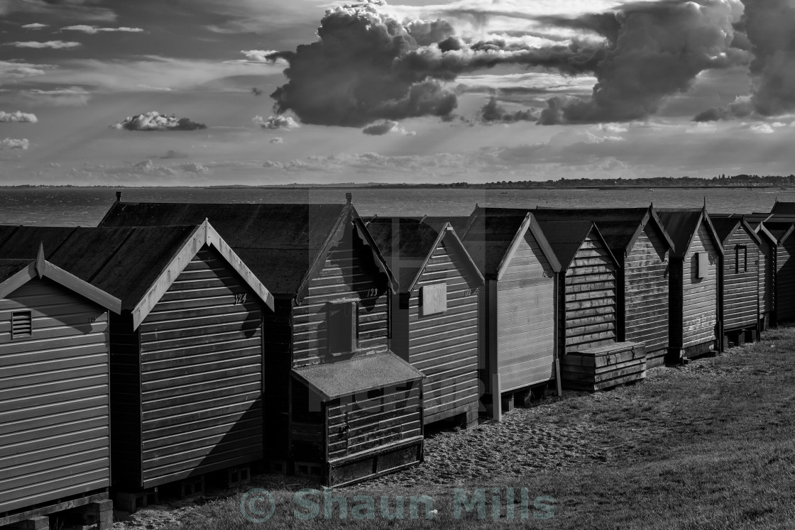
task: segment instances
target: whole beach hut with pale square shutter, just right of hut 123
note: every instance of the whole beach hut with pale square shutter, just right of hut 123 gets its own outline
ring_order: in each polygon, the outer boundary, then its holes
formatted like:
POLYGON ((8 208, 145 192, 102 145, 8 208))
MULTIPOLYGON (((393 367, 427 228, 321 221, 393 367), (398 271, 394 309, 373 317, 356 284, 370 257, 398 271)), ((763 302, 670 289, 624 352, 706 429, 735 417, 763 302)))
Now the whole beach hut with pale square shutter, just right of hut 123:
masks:
POLYGON ((478 293, 483 276, 448 222, 379 217, 367 224, 400 285, 391 349, 425 374, 425 425, 478 421, 478 293))

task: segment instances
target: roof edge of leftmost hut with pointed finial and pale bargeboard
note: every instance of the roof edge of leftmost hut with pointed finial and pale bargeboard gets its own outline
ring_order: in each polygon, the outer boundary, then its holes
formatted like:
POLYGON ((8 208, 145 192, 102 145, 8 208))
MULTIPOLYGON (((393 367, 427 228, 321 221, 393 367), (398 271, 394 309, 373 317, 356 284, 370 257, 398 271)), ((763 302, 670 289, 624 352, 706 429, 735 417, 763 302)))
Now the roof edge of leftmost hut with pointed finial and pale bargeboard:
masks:
POLYGON ((36 261, 23 259, 0 259, 0 298, 5 298, 33 278, 48 278, 76 292, 87 300, 99 304, 114 313, 122 311, 122 301, 107 292, 45 260, 42 246, 36 261))

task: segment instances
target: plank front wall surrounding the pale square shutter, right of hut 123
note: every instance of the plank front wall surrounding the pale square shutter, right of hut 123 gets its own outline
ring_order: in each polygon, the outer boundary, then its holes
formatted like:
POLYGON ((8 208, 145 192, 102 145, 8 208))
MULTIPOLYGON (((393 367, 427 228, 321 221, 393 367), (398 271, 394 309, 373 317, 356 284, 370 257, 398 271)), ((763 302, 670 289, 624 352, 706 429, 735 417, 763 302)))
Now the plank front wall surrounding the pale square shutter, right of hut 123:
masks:
POLYGON ((445 245, 433 250, 409 299, 409 362, 425 374, 425 423, 478 408, 478 280, 463 253, 445 245), (424 285, 447 284, 447 310, 421 315, 424 285))

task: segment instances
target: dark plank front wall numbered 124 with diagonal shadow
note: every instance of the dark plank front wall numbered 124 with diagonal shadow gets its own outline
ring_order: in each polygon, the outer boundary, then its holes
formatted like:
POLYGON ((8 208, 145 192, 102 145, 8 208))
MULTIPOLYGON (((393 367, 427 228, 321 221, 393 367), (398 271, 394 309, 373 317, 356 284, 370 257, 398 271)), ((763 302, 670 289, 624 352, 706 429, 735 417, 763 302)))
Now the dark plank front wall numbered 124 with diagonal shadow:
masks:
POLYGON ((262 458, 261 307, 235 270, 205 246, 140 331, 142 487, 262 458))

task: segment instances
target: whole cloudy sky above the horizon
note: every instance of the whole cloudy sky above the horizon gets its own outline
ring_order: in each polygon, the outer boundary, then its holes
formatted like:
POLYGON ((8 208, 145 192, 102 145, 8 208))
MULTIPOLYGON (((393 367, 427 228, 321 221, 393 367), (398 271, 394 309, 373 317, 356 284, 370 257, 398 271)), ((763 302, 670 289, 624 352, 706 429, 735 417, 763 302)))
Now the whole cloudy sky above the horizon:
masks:
POLYGON ((0 185, 795 172, 795 0, 0 0, 0 185))

